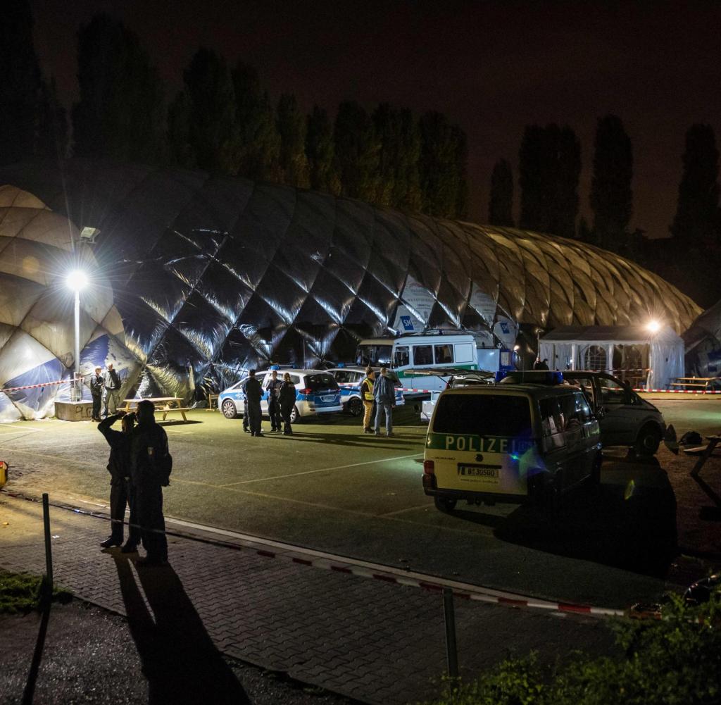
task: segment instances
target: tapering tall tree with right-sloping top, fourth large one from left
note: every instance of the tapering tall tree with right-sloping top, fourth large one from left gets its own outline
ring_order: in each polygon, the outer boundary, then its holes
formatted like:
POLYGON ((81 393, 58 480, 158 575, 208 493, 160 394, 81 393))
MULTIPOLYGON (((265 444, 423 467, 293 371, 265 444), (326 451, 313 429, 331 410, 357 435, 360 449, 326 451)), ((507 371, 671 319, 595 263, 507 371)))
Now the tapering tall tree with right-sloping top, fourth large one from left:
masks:
POLYGON ((239 61, 232 75, 240 140, 238 174, 280 182, 280 135, 270 99, 252 66, 239 61))

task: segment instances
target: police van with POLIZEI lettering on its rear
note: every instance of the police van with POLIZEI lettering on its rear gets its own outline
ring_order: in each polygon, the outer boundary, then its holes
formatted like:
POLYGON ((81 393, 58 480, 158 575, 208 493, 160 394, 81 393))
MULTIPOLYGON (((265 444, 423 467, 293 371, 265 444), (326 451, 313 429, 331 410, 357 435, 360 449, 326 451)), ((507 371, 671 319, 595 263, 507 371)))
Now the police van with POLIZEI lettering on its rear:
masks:
POLYGON ((601 479, 601 433, 583 391, 570 386, 447 389, 433 409, 423 489, 443 511, 456 502, 554 505, 601 479))

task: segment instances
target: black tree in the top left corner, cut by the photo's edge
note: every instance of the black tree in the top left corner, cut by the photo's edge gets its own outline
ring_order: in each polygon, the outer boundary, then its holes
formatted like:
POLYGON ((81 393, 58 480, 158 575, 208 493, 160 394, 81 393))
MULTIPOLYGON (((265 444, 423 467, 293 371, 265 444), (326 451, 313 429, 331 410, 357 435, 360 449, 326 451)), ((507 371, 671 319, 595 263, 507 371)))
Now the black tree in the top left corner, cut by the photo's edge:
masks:
POLYGON ((6 0, 0 20, 0 164, 35 151, 40 68, 27 0, 6 0))

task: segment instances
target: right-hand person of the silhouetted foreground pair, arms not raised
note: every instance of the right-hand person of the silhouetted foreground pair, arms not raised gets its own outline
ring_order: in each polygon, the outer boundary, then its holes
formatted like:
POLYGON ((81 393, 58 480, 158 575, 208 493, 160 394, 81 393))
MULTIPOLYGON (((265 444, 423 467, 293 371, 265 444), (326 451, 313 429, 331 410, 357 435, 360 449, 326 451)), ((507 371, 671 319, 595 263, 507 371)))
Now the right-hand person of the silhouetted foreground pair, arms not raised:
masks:
POLYGON ((155 421, 153 402, 138 404, 138 425, 131 436, 131 478, 136 489, 138 523, 148 552, 138 565, 162 565, 168 559, 163 516, 163 487, 170 482, 168 437, 155 421))

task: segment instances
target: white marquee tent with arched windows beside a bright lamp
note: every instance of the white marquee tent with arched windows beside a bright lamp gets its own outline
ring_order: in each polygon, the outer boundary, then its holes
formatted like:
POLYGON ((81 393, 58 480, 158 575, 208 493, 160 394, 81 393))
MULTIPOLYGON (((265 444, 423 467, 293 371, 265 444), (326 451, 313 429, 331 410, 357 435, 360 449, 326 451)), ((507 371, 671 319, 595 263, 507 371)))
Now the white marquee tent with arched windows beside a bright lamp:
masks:
POLYGON ((645 326, 562 326, 539 343, 539 359, 547 359, 552 370, 645 378, 646 389, 669 389, 684 375, 684 341, 668 326, 655 332, 645 326), (622 360, 619 367, 614 360, 622 360))

